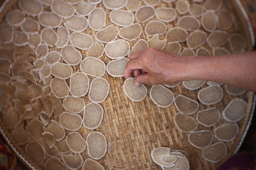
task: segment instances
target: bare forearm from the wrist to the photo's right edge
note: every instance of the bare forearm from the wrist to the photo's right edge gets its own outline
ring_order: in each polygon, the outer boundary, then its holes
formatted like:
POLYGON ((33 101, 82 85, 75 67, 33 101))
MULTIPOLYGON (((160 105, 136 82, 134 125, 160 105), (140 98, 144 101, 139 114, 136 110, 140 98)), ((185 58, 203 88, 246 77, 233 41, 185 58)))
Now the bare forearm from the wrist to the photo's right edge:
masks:
POLYGON ((256 52, 184 58, 184 80, 208 80, 256 92, 256 52))

